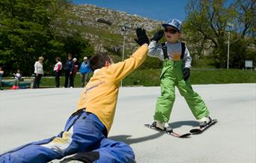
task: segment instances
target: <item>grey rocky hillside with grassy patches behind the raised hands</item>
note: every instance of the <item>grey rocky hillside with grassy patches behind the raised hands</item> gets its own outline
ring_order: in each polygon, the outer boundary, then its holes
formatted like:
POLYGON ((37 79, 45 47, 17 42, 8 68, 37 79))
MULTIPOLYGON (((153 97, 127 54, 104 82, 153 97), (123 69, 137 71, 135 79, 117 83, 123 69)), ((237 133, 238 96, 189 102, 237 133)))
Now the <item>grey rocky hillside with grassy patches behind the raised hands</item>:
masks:
POLYGON ((72 19, 68 19, 68 23, 72 25, 74 30, 81 31, 82 36, 90 40, 96 52, 110 50, 121 53, 124 40, 122 26, 127 27, 126 52, 131 52, 136 46, 133 40, 135 38, 135 28, 142 27, 146 29, 150 37, 150 34, 162 24, 162 22, 154 19, 109 10, 91 4, 73 5, 71 10, 74 16, 72 19))

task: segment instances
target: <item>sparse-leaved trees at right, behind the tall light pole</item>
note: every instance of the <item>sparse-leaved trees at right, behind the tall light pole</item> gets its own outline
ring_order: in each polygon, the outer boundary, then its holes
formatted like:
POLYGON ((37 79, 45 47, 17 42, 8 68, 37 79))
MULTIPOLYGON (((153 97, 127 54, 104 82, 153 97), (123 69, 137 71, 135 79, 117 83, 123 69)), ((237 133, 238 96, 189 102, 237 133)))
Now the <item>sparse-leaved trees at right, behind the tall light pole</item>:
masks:
POLYGON ((192 0, 186 6, 186 37, 200 58, 204 52, 214 58, 216 67, 226 67, 228 32, 231 36, 231 67, 241 67, 246 49, 255 36, 255 0, 192 0), (236 64, 239 62, 240 64, 236 64))

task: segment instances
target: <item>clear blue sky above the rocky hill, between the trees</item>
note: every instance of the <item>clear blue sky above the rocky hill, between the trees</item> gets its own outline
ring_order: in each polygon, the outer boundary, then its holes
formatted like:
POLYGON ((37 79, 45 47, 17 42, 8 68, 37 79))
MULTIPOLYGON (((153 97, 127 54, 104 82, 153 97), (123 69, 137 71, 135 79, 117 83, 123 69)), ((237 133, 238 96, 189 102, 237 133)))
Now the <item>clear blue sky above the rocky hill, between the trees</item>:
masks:
POLYGON ((185 7, 189 0, 73 0, 73 3, 94 4, 160 21, 173 18, 184 21, 185 7))

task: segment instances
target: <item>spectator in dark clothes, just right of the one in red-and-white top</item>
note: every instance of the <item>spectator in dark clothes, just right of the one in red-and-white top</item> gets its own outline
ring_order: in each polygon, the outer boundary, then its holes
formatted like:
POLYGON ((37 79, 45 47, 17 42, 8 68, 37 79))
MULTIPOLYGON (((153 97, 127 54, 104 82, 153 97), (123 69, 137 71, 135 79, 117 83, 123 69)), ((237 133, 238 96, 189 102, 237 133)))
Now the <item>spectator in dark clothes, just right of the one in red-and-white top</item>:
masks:
POLYGON ((64 87, 74 87, 73 83, 73 69, 74 69, 74 61, 72 60, 72 55, 69 53, 67 55, 67 61, 65 64, 65 84, 64 87), (70 83, 69 85, 67 85, 70 83))

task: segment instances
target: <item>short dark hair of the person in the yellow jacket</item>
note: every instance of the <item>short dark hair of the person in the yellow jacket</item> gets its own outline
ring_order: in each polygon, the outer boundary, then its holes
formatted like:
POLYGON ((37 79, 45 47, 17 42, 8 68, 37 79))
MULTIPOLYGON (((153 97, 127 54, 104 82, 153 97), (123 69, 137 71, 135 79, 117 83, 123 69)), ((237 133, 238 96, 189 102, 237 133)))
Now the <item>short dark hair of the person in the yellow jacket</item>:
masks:
POLYGON ((106 61, 111 62, 111 58, 106 53, 97 53, 92 56, 89 63, 92 71, 105 67, 106 61))

